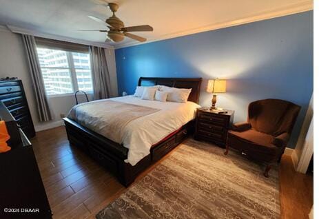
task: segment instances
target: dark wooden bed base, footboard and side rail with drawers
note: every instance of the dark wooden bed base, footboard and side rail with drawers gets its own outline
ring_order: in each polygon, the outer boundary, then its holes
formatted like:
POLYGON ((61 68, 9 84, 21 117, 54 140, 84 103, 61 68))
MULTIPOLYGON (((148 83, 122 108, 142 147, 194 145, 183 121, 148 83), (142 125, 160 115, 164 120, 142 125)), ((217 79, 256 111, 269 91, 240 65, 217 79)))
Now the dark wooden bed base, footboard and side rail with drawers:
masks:
POLYGON ((161 159, 187 138, 189 134, 194 132, 194 121, 190 121, 176 132, 176 134, 154 145, 148 156, 132 166, 124 162, 124 160, 127 159, 128 149, 123 147, 123 145, 114 143, 114 141, 92 132, 90 129, 72 121, 70 118, 63 118, 63 121, 70 145, 81 148, 99 164, 115 174, 125 187, 133 183, 138 174, 155 161, 161 159))

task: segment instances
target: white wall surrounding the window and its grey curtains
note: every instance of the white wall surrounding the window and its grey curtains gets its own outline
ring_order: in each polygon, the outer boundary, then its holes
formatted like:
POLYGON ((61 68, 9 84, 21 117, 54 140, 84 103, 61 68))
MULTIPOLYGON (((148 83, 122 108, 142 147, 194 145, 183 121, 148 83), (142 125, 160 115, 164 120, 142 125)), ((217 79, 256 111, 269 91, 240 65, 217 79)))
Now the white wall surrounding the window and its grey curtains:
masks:
MULTIPOLYGON (((107 49, 106 52, 108 68, 110 71, 112 87, 111 96, 117 96, 117 79, 116 79, 116 65, 115 55, 113 49, 107 49)), ((34 101, 34 94, 32 90, 32 82, 30 74, 28 72, 28 66, 25 61, 25 52, 19 34, 14 34, 0 25, 0 77, 18 77, 22 80, 25 89, 25 95, 28 99, 28 105, 34 127, 37 131, 48 129, 62 125, 60 114, 68 114, 72 106, 75 105, 75 99, 73 95, 52 97, 49 98, 50 108, 54 114, 54 121, 47 123, 40 123, 37 116, 37 106, 34 101)), ((92 95, 89 95, 92 99, 92 95)), ((83 96, 79 98, 79 101, 84 100, 83 96)))

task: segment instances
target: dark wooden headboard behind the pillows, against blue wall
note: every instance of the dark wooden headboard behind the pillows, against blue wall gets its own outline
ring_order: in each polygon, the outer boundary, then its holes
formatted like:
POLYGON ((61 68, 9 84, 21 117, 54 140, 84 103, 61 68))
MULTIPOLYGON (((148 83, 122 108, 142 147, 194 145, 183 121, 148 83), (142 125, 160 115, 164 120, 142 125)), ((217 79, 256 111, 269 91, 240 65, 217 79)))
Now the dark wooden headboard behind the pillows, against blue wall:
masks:
POLYGON ((176 88, 192 88, 188 101, 198 103, 202 78, 147 78, 141 77, 138 86, 165 85, 176 88))

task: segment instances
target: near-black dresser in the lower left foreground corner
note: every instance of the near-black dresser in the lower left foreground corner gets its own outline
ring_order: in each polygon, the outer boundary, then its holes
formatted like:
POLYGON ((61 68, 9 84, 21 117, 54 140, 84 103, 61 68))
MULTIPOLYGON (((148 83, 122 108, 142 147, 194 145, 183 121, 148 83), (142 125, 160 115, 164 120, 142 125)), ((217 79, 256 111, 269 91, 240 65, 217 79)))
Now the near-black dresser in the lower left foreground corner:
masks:
POLYGON ((0 101, 11 150, 0 153, 0 218, 52 218, 32 145, 0 101))

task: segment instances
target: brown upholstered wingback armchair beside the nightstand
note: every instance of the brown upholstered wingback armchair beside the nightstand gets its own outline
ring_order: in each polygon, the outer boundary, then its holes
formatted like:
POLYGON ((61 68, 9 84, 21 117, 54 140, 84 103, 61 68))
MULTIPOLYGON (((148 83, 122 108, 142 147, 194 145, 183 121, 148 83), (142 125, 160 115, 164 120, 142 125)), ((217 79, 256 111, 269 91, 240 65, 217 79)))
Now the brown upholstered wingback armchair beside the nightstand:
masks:
POLYGON ((266 163, 268 177, 271 164, 280 162, 289 140, 300 106, 278 99, 254 101, 248 106, 246 123, 236 123, 228 132, 225 155, 229 147, 249 158, 266 163))

